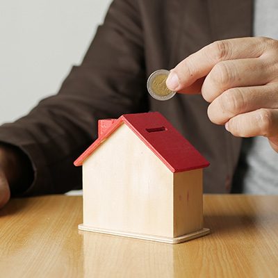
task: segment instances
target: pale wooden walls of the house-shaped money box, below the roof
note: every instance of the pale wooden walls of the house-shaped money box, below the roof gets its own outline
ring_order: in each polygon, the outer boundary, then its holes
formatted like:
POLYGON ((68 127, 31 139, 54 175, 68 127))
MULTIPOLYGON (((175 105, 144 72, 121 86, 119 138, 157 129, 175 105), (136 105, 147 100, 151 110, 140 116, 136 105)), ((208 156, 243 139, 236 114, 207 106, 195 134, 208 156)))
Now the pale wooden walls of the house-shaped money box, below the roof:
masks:
POLYGON ((164 243, 202 236, 202 171, 172 173, 122 124, 83 163, 80 229, 164 243))

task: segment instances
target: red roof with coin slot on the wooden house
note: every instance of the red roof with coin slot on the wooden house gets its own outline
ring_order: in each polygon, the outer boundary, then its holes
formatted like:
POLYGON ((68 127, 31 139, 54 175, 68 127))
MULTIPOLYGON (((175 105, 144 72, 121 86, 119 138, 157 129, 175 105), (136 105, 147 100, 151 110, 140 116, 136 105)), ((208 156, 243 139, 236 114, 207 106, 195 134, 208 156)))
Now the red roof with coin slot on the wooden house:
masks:
POLYGON ((193 145, 158 112, 122 115, 74 161, 74 165, 82 165, 122 123, 129 126, 172 172, 199 169, 209 165, 193 145))

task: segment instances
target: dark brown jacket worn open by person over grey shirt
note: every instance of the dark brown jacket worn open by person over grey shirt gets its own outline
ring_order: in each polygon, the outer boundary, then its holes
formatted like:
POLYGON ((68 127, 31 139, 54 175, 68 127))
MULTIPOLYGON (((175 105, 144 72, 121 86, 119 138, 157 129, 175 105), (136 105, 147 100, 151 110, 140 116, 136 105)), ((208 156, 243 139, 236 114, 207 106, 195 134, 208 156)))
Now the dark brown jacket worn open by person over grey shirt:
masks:
POLYGON ((211 162, 204 192, 229 192, 241 140, 208 120, 200 95, 156 101, 146 80, 214 40, 251 34, 251 0, 115 0, 58 94, 0 127, 0 141, 18 146, 33 164, 35 181, 25 195, 81 186, 81 168, 73 161, 95 140, 97 120, 145 111, 165 115, 211 162))

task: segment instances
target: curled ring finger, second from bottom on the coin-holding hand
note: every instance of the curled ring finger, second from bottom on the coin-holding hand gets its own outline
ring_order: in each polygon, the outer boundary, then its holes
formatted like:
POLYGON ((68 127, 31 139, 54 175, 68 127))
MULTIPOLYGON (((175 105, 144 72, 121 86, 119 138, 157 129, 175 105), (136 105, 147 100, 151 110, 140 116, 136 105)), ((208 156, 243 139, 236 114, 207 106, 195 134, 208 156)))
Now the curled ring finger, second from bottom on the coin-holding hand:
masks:
POLYGON ((259 108, 278 108, 278 84, 231 88, 208 106, 208 117, 215 124, 224 124, 241 113, 259 108))

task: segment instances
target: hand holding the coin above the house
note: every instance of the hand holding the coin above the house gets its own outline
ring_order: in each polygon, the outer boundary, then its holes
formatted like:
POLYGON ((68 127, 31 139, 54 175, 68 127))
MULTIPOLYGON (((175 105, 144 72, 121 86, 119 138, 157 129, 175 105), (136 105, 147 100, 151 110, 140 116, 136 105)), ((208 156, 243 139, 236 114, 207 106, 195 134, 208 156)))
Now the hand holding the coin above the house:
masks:
POLYGON ((211 122, 234 136, 265 136, 278 152, 277 40, 213 42, 181 61, 166 83, 177 92, 202 92, 211 122))

